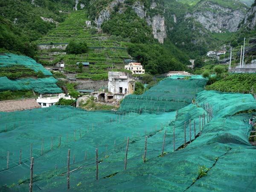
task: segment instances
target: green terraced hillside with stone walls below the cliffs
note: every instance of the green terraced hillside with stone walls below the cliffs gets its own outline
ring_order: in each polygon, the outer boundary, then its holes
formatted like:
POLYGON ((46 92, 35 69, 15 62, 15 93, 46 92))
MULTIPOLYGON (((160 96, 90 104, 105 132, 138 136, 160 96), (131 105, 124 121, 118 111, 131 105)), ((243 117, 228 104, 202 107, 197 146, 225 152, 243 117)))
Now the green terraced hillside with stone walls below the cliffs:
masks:
POLYGON ((87 26, 86 11, 70 13, 67 20, 43 38, 35 41, 38 44, 38 62, 44 66, 53 66, 64 61, 65 70, 78 72, 77 62, 89 62, 90 66, 79 74, 78 78, 107 79, 108 70, 123 69, 124 59, 131 58, 126 46, 128 39, 120 40, 108 36, 94 26, 87 26), (67 55, 65 48, 70 41, 86 42, 89 50, 84 54, 67 55), (97 74, 97 78, 96 75, 97 74))

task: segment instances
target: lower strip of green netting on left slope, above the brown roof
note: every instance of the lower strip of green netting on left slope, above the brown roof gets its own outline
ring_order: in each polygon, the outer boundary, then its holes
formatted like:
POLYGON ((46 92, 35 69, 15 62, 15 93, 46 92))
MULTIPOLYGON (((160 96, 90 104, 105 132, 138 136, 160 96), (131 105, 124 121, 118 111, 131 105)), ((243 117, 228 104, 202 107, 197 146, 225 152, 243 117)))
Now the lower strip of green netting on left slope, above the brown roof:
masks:
POLYGON ((56 84, 58 80, 53 77, 42 79, 17 79, 10 80, 7 77, 0 77, 0 91, 5 90, 34 90, 37 93, 62 93, 61 88, 56 84))

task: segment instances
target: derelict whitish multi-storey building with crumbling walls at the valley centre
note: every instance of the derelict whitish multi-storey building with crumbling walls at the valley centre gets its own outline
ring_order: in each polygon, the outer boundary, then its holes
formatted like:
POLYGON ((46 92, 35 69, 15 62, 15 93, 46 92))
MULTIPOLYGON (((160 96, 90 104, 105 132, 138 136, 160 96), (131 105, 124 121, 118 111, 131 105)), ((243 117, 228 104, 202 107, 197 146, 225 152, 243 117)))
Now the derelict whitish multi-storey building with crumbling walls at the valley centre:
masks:
POLYGON ((132 94, 135 81, 132 74, 125 72, 108 72, 108 91, 113 93, 113 99, 123 99, 125 95, 132 94))

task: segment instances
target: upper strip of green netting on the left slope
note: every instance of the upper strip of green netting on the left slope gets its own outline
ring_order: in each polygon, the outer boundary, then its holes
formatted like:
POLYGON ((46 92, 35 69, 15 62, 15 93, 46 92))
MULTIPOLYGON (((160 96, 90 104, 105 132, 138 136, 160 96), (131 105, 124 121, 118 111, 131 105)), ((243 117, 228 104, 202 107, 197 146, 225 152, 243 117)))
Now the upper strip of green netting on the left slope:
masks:
POLYGON ((40 70, 44 73, 45 76, 52 76, 52 73, 50 71, 46 70, 41 64, 38 64, 32 58, 9 53, 0 55, 0 67, 9 67, 11 65, 23 65, 24 67, 35 70, 35 72, 38 72, 40 70))

